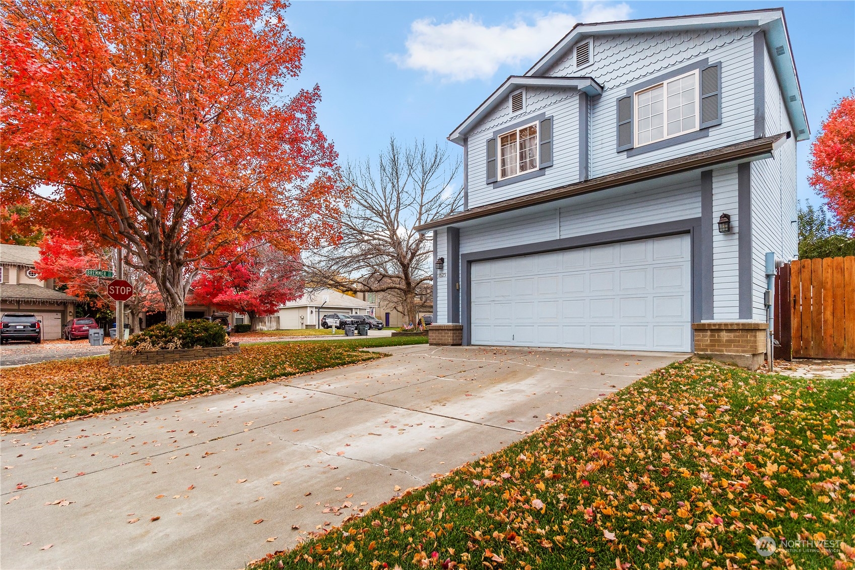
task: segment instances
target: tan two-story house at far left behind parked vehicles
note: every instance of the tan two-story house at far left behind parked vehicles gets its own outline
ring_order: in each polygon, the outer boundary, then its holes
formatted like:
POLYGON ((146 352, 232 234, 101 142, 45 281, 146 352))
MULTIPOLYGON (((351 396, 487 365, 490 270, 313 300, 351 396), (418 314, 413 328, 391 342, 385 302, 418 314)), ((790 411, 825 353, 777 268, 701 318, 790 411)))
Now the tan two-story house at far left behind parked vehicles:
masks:
POLYGON ((62 325, 74 318, 78 299, 54 290, 53 279, 36 274, 38 247, 0 244, 0 312, 27 312, 42 321, 42 337, 62 337, 62 325))

